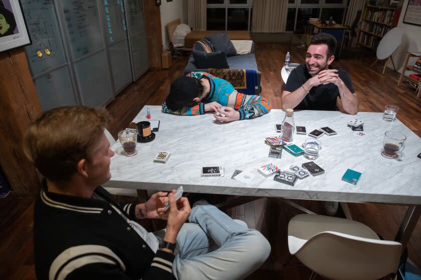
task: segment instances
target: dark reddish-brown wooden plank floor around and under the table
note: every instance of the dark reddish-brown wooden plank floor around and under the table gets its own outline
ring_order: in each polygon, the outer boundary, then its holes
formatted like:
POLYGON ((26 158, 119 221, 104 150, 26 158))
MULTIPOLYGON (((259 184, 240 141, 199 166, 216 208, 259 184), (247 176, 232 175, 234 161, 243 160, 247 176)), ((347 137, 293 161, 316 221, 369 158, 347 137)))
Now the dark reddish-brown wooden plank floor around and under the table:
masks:
MULTIPOLYGON (((282 108, 281 93, 283 81, 280 69, 286 51, 291 61, 304 62, 305 49, 288 44, 256 44, 256 59, 262 72, 262 96, 271 100, 273 108, 282 108)), ((187 57, 173 60, 169 70, 155 70, 144 74, 131 84, 107 106, 114 117, 109 130, 117 132, 127 127, 138 111, 145 105, 160 105, 169 91, 171 81, 182 75, 187 57)), ((400 107, 397 118, 421 136, 421 99, 407 85, 396 86, 399 74, 387 68, 381 74, 382 65, 374 61, 373 53, 359 49, 346 51, 340 61, 334 63, 343 67, 350 75, 354 89, 360 99, 360 111, 383 111, 384 105, 400 107)), ((339 105, 341 108, 341 106, 339 105)), ((247 120, 246 120, 247 121, 247 120)), ((124 198, 119 198, 124 199, 124 198)), ((33 256, 33 208, 34 198, 18 198, 13 193, 0 199, 0 279, 34 279, 33 256)), ((317 201, 298 201, 301 205, 322 213, 317 201)), ((399 223, 405 213, 405 206, 371 203, 348 203, 352 216, 370 226, 385 239, 393 240, 399 223)), ((287 225, 298 212, 289 206, 279 205, 262 198, 227 210, 233 218, 242 219, 260 230, 270 241, 272 252, 269 259, 247 279, 308 279, 310 270, 297 264, 288 253, 287 225)), ((418 221, 408 243, 409 258, 421 267, 421 221, 418 221)))

